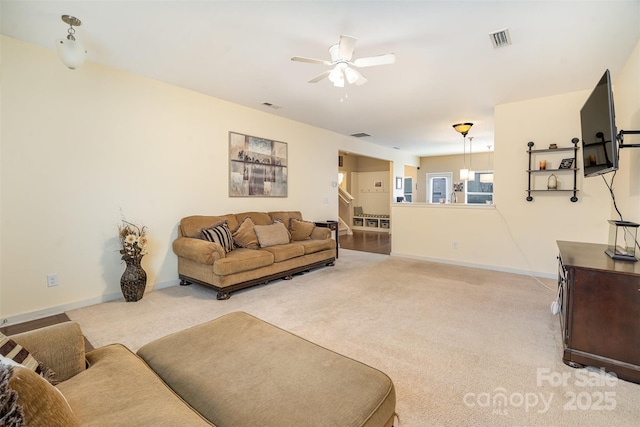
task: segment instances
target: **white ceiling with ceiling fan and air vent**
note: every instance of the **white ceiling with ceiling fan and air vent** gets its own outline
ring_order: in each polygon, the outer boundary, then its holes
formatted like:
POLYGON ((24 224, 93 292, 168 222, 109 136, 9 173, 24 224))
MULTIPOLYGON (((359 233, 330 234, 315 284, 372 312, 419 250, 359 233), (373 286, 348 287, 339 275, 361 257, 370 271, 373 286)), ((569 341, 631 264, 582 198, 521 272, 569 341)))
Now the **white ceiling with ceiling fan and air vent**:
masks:
MULTIPOLYGON (((462 152, 452 124, 493 145, 494 105, 615 82, 640 38, 640 1, 0 1, 1 32, 54 49, 67 25, 88 61, 140 74, 415 155, 462 152), (512 45, 489 33, 508 28, 512 45), (341 34, 369 82, 308 80, 341 34), (262 105, 270 102, 282 108, 262 105)), ((61 66, 63 66, 61 64, 61 66)), ((74 72, 74 71, 69 71, 74 72)), ((578 114, 578 111, 576 111, 578 114)), ((543 125, 543 124, 541 124, 543 125)))

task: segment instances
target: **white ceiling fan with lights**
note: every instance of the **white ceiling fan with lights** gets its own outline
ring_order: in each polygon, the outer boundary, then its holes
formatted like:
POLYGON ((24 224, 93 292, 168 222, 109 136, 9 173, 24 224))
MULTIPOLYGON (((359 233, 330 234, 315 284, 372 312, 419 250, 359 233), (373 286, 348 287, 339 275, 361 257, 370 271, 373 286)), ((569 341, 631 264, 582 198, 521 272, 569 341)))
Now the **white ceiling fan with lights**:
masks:
POLYGON ((322 59, 305 58, 302 56, 294 56, 292 61, 309 62, 311 64, 330 65, 333 67, 324 73, 309 80, 309 83, 317 83, 328 77, 331 83, 337 87, 344 87, 345 80, 349 84, 363 85, 367 82, 356 68, 373 67, 375 65, 393 64, 396 62, 396 56, 393 53, 384 55, 371 56, 368 58, 359 58, 352 61, 353 52, 356 49, 356 39, 351 36, 340 36, 340 43, 334 44, 329 48, 330 61, 322 59))

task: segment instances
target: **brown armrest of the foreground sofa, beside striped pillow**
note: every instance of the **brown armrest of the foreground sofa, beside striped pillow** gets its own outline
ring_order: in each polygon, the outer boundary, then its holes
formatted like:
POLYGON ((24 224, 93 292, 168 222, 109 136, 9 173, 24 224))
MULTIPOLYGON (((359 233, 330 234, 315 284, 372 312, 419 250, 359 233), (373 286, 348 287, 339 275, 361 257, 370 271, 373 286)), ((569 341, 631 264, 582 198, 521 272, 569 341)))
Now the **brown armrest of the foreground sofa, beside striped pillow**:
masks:
POLYGON ((84 336, 76 322, 63 322, 12 335, 11 339, 55 373, 62 382, 86 369, 84 336))

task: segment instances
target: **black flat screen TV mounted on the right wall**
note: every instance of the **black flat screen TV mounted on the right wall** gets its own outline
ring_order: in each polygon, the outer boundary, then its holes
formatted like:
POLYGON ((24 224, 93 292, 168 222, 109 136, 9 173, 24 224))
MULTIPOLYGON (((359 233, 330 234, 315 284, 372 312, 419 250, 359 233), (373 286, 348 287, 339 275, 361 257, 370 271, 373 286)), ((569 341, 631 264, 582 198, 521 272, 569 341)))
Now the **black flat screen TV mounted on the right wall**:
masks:
POLYGON ((609 70, 580 110, 584 176, 602 175, 618 169, 618 141, 609 70))

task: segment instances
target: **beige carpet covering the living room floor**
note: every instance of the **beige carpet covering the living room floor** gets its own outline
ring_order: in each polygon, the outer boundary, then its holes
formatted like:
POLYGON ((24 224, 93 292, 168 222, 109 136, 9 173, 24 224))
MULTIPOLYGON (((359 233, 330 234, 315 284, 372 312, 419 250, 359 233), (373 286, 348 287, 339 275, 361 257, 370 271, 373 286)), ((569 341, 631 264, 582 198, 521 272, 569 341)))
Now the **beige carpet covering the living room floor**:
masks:
POLYGON ((548 279, 342 250, 335 267, 227 301, 176 286, 67 314, 94 346, 135 351, 246 311, 388 374, 402 427, 637 425, 640 385, 562 363, 554 288, 548 279))

